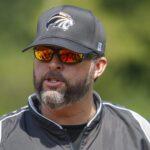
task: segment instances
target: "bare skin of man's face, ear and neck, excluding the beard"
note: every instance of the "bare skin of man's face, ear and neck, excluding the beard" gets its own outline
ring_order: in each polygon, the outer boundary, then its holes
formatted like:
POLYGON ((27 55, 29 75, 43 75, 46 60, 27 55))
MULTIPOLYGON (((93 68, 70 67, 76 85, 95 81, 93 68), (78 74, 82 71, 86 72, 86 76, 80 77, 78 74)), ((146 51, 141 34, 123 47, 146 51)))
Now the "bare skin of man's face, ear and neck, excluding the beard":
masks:
MULTIPOLYGON (((41 77, 49 70, 60 72, 65 79, 75 84, 77 81, 86 78, 88 72, 94 65, 92 73, 92 82, 86 94, 82 99, 76 103, 63 106, 59 109, 52 109, 44 103, 41 103, 41 113, 57 122, 61 125, 79 125, 88 122, 96 113, 95 104, 93 101, 93 84, 94 80, 102 75, 106 66, 107 59, 105 57, 97 58, 97 60, 84 60, 81 63, 74 65, 66 65, 59 61, 56 55, 49 63, 34 60, 34 73, 36 80, 40 80, 41 77)), ((60 83, 58 89, 63 88, 65 83, 60 83)), ((45 91, 50 90, 45 82, 43 82, 43 89, 45 91)))

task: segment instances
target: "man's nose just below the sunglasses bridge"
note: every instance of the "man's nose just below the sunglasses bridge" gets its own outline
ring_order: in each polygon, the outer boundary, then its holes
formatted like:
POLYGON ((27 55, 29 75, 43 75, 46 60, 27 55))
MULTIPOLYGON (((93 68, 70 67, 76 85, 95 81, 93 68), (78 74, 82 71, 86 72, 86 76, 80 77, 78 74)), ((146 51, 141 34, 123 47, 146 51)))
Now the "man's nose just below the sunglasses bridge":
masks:
POLYGON ((53 70, 62 70, 63 63, 59 60, 58 56, 54 54, 52 60, 49 62, 49 69, 53 70))

